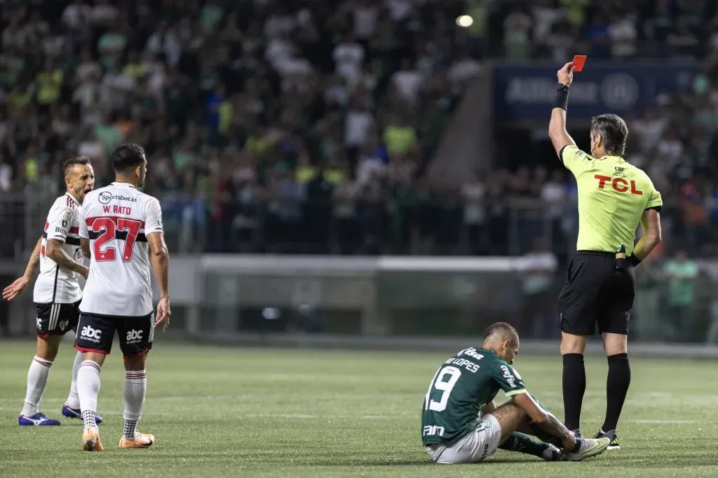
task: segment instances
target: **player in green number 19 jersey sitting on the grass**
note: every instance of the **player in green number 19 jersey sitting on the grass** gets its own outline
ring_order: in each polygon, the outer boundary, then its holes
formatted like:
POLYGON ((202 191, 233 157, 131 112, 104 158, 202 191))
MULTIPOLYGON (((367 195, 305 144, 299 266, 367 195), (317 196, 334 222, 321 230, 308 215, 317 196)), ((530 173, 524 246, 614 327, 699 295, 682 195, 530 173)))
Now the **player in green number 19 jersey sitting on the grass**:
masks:
POLYGON ((607 449, 610 439, 576 437, 538 404, 513 369, 516 354, 516 329, 497 322, 486 329, 481 348, 461 350, 439 367, 421 411, 421 438, 434 462, 480 462, 498 448, 579 462, 607 449), (497 408, 499 389, 510 401, 497 408))

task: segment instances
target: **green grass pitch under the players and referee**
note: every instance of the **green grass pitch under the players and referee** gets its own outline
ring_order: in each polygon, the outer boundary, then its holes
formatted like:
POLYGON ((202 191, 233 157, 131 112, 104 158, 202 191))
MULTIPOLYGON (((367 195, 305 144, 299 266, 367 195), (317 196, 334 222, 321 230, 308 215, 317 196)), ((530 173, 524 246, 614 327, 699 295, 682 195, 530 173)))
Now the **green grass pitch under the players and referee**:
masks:
MULTIPOLYGON (((467 344, 471 345, 471 344, 467 344)), ((64 343, 41 410, 62 426, 19 427, 32 342, 0 342, 0 477, 715 477, 718 363, 633 360, 620 423, 623 449, 582 463, 499 450, 480 464, 431 464, 419 412, 448 354, 258 350, 159 342, 139 429, 151 449, 121 450, 118 350, 102 372, 104 453, 80 451, 82 424, 60 416, 74 350, 64 343)), ((561 361, 520 356, 529 391, 562 415, 561 361)), ((605 406, 605 358, 587 358, 582 428, 605 406)), ((498 401, 503 398, 499 393, 498 401)))

